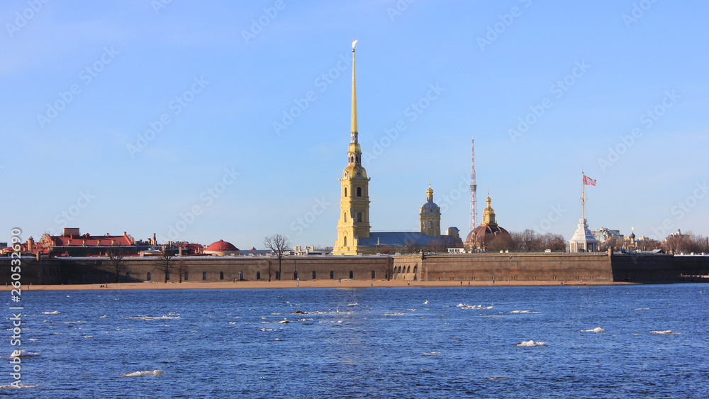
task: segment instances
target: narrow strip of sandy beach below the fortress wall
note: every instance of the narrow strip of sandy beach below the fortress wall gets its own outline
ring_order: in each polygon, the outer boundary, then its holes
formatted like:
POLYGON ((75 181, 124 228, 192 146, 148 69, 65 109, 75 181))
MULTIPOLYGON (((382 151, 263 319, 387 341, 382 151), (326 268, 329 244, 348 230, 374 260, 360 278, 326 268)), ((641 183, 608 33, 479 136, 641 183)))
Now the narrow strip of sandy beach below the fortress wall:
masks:
MULTIPOLYGON (((627 283, 568 281, 567 286, 610 286, 627 283)), ((366 288, 366 287, 467 287, 467 286, 560 286, 561 281, 407 281, 407 280, 307 280, 307 281, 184 281, 182 283, 108 283, 67 285, 23 285, 24 291, 62 290, 162 290, 162 289, 263 289, 263 288, 366 288)), ((12 287, 6 286, 5 291, 12 287)))

